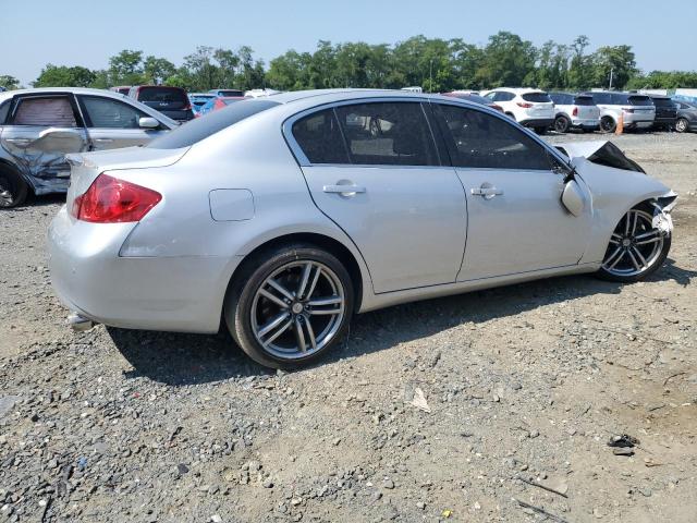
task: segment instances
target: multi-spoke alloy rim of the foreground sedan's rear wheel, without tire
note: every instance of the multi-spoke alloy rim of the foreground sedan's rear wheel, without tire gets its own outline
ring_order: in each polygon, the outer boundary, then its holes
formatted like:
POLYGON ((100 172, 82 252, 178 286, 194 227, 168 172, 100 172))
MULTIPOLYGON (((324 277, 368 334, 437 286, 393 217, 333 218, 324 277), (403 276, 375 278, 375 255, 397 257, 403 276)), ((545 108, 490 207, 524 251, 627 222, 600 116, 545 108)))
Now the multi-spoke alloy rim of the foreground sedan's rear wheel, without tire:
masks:
POLYGON ((335 337, 345 315, 339 277, 325 264, 295 260, 264 280, 252 303, 252 329, 264 350, 282 360, 304 358, 335 337))

